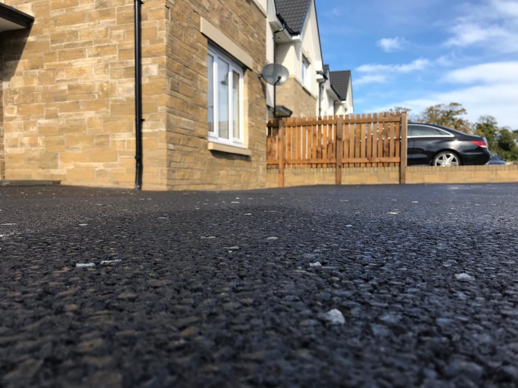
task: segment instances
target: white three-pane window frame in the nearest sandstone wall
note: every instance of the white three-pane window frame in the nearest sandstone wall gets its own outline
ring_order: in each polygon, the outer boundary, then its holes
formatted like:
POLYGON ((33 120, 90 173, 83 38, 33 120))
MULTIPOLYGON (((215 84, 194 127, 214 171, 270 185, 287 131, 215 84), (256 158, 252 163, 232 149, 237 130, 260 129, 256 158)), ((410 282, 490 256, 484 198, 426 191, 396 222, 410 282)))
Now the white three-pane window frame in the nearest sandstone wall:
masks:
MULTIPOLYGON (((244 148, 244 125, 243 125, 243 107, 244 107, 244 96, 243 96, 243 67, 238 65, 231 57, 226 55, 221 50, 209 47, 208 55, 212 56, 212 99, 213 99, 213 112, 212 120, 214 121, 214 132, 209 133, 209 141, 214 143, 228 144, 232 146, 238 146, 244 148), (221 61, 228 64, 228 139, 219 136, 219 105, 218 105, 218 58, 221 61), (232 103, 233 93, 233 71, 239 74, 239 137, 234 137, 234 106, 232 103)), ((208 63, 208 58, 207 58, 208 63)), ((207 91, 208 93, 208 91, 207 91)), ((208 98, 208 96, 207 96, 208 98)))

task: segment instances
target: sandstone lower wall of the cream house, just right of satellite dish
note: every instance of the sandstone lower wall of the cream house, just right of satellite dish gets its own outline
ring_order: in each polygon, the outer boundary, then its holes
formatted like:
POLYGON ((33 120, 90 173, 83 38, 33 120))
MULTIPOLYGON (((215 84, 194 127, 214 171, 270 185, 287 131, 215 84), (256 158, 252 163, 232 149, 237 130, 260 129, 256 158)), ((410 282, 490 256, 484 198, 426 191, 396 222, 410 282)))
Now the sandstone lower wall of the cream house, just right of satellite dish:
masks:
POLYGON ((293 111, 293 117, 316 116, 318 101, 294 77, 277 87, 277 105, 293 111))

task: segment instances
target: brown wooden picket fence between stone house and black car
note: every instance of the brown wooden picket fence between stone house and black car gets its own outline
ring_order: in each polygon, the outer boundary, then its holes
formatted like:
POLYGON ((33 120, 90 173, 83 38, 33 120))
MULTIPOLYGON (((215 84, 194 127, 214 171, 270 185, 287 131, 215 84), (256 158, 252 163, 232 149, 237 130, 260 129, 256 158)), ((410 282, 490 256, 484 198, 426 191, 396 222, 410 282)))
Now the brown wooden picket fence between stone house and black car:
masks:
POLYGON ((268 122, 267 168, 399 167, 405 183, 407 166, 406 113, 293 117, 268 122))

